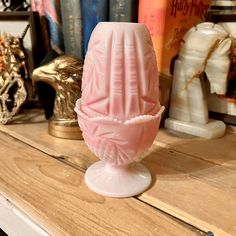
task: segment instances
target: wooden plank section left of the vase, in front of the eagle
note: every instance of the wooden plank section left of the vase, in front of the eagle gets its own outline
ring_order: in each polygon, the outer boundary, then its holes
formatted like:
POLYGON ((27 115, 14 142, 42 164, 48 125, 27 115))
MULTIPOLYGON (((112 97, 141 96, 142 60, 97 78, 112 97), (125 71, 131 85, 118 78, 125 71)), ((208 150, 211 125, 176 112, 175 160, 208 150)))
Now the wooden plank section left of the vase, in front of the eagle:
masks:
POLYGON ((43 112, 38 109, 25 110, 24 113, 16 116, 10 124, 0 125, 0 131, 55 158, 74 163, 77 168, 83 170, 97 160, 97 157, 90 152, 83 141, 55 138, 49 135, 48 122, 43 112), (71 158, 73 161, 70 161, 71 158))

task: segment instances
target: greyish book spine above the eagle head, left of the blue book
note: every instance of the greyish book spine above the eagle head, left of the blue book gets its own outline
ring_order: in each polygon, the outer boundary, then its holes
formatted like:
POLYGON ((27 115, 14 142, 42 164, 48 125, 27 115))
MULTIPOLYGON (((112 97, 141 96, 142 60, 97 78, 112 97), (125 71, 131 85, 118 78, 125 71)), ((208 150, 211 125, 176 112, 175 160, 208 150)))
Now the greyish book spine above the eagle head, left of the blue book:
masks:
POLYGON ((61 0, 65 53, 82 59, 82 17, 80 0, 61 0))

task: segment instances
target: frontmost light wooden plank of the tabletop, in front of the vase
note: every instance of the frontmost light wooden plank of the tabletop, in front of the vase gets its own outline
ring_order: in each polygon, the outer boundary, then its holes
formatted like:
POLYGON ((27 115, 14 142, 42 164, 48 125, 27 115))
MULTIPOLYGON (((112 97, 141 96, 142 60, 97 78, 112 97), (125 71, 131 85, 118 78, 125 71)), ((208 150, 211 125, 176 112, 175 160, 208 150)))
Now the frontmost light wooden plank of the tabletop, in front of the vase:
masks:
POLYGON ((83 174, 0 133, 0 192, 51 235, 201 235, 134 199, 104 198, 83 174))

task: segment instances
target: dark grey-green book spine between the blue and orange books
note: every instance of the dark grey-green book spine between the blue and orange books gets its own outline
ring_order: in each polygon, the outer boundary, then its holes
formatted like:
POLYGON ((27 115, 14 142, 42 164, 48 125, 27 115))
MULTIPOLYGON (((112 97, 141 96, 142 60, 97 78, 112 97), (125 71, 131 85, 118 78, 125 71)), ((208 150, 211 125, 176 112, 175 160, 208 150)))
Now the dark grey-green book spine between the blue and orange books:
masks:
POLYGON ((110 0, 109 21, 137 22, 138 0, 110 0))

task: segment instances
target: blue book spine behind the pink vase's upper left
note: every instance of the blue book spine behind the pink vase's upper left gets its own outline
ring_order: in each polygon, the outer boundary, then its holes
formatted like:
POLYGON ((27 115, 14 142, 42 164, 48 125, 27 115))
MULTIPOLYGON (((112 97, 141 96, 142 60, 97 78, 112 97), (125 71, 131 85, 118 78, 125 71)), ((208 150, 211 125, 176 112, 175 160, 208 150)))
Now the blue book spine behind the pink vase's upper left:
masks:
POLYGON ((94 27, 100 21, 108 21, 108 3, 108 0, 81 1, 84 56, 94 27))

